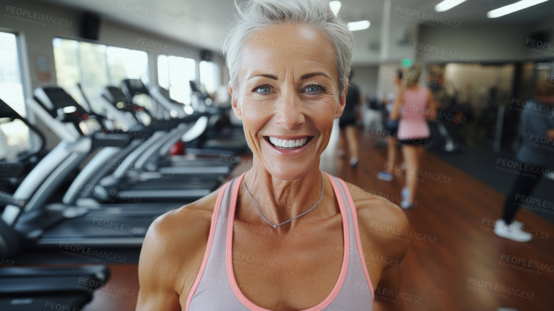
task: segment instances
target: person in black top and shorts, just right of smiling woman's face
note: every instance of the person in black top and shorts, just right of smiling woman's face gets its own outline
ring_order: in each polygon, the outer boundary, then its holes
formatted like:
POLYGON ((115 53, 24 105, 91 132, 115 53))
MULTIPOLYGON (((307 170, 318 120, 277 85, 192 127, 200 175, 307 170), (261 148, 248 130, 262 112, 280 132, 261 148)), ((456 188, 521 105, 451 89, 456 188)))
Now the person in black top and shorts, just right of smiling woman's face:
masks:
POLYGON ((350 69, 350 76, 348 76, 348 93, 346 93, 346 105, 340 119, 338 119, 338 128, 340 128, 340 140, 338 147, 339 156, 345 155, 345 143, 348 145, 348 151, 350 152, 350 165, 356 166, 358 164, 358 137, 356 131, 356 108, 362 104, 362 96, 358 87, 352 84, 353 72, 350 69), (346 139, 345 139, 346 136, 346 139))

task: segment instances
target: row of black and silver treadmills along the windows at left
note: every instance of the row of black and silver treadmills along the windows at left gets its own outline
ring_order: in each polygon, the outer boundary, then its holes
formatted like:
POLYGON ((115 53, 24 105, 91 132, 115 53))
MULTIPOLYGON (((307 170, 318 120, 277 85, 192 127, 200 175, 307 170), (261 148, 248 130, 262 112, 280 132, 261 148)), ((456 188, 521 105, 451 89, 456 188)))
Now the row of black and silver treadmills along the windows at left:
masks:
POLYGON ((44 135, 0 101, 0 122, 20 120, 29 141, 42 141, 38 150, 0 160, 9 168, 0 179, 14 190, 0 191, 1 310, 80 309, 109 278, 104 264, 19 263, 122 263, 121 253, 136 260, 152 221, 216 190, 235 164, 220 159, 236 159, 230 156, 247 147, 242 128, 225 121, 229 109, 182 105, 141 80, 109 86, 96 102, 101 111, 61 88, 36 89, 27 108, 61 139, 45 152, 44 135), (133 100, 139 94, 149 109, 133 100))

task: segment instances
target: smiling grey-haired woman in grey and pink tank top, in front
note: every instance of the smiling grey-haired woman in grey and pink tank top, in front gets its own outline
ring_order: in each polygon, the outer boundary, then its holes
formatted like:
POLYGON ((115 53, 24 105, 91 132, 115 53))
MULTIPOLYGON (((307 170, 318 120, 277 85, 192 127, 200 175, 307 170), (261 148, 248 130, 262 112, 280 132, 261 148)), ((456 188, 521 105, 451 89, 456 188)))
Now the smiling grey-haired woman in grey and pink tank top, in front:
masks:
MULTIPOLYGON (((137 310, 373 310, 375 288, 400 287, 407 243, 394 236, 406 216, 319 170, 345 106, 352 34, 326 0, 237 11, 224 52, 253 167, 152 224, 137 310)), ((403 310, 388 300, 381 310, 403 310)))

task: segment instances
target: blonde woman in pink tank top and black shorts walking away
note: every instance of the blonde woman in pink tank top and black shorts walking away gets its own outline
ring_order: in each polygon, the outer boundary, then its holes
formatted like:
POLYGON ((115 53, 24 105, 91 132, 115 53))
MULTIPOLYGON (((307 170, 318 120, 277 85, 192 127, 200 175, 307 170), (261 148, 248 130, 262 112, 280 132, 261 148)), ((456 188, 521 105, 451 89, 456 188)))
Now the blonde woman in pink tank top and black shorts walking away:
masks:
POLYGON ((402 189, 401 206, 413 206, 419 173, 419 159, 423 156, 426 147, 432 145, 429 140, 430 132, 428 120, 435 119, 435 102, 433 93, 425 86, 420 85, 422 77, 419 65, 413 65, 404 71, 402 85, 394 99, 391 111, 391 120, 400 119, 398 124, 398 142, 402 146, 402 155, 406 167, 392 170, 406 169, 406 186, 402 189))

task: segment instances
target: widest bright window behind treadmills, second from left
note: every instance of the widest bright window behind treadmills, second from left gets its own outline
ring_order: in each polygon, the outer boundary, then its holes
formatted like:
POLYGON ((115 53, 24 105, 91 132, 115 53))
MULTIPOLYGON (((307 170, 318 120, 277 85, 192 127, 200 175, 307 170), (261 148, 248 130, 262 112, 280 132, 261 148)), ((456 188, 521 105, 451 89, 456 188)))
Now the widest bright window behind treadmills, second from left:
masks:
MULTIPOLYGON (((106 86, 121 86, 124 79, 148 83, 148 54, 140 50, 54 38, 54 63, 58 86, 82 103, 81 84, 91 109, 99 111, 98 93, 106 86)), ((141 105, 147 99, 141 98, 141 105)))

